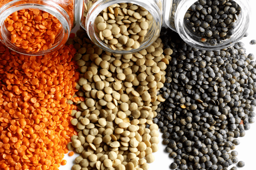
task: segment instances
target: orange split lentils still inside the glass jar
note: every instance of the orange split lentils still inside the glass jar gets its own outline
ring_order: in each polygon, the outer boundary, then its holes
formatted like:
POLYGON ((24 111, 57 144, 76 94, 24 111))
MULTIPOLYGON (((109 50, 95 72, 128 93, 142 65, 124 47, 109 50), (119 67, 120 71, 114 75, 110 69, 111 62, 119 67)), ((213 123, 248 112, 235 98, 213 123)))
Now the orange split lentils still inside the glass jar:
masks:
POLYGON ((12 34, 11 43, 27 53, 47 50, 61 31, 57 18, 37 9, 16 11, 5 22, 12 34))

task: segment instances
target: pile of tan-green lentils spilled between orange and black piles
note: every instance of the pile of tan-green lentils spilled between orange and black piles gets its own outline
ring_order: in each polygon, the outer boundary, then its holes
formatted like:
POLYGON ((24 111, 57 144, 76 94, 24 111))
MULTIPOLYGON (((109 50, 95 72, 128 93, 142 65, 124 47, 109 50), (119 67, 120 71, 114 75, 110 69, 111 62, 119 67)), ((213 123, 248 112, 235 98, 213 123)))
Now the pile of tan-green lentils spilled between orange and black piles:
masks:
POLYGON ((112 54, 93 45, 83 30, 76 35, 68 43, 78 52, 76 95, 84 99, 71 114, 78 135, 67 146, 80 153, 72 169, 148 170, 155 160, 152 153, 158 151, 153 118, 165 101, 158 91, 164 87, 172 50, 164 55, 158 38, 139 53, 112 54))

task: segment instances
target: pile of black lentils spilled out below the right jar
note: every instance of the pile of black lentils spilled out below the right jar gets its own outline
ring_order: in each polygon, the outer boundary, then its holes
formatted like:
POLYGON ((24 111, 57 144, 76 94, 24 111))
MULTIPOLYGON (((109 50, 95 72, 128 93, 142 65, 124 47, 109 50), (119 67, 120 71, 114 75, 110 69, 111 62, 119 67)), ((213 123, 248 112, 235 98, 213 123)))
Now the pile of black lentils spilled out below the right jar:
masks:
POLYGON ((254 123, 254 55, 245 53, 242 42, 219 51, 198 50, 164 27, 160 37, 164 49, 173 53, 158 93, 166 100, 158 105, 154 123, 175 160, 170 168, 228 170, 233 163, 243 167, 238 153, 230 151, 254 123))

